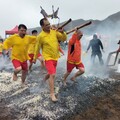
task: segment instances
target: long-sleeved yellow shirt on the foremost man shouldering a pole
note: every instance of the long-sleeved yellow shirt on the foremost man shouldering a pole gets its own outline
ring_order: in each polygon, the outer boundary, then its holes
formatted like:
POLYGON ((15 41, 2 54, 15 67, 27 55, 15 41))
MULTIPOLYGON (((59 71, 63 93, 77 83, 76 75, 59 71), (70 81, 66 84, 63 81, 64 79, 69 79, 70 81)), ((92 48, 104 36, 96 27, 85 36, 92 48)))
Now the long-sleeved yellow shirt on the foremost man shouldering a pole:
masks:
POLYGON ((42 31, 38 37, 35 45, 34 59, 37 58, 37 54, 42 49, 42 56, 44 60, 58 60, 59 58, 59 41, 65 41, 67 39, 66 33, 60 33, 56 30, 50 30, 50 33, 42 31))

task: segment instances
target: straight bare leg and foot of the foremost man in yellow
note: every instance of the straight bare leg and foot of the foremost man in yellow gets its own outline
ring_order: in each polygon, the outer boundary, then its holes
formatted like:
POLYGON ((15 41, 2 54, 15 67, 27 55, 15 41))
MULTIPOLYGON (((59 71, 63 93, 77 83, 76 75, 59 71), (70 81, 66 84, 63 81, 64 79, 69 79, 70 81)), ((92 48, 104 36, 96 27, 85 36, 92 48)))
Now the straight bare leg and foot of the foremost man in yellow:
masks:
POLYGON ((53 102, 56 102, 57 98, 55 97, 55 93, 54 93, 54 79, 55 79, 55 75, 50 75, 49 77, 50 97, 53 102))

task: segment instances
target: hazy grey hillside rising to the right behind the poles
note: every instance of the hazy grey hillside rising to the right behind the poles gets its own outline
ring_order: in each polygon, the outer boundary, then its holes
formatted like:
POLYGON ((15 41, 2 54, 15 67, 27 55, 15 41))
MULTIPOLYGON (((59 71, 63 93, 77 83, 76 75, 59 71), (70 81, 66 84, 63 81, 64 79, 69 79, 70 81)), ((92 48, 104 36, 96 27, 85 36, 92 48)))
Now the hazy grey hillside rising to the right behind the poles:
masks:
MULTIPOLYGON (((70 30, 88 21, 90 20, 83 20, 83 19, 74 20, 65 27, 65 30, 66 31, 70 30)), ((94 34, 97 32, 100 34, 107 34, 107 35, 112 34, 114 36, 115 35, 120 36, 120 32, 119 32, 120 31, 120 12, 110 15, 102 21, 92 20, 92 19, 91 21, 92 21, 91 25, 81 29, 84 32, 84 34, 89 35, 89 34, 94 34)), ((37 29, 39 32, 41 31, 40 27, 36 27, 32 29, 37 29)), ((30 29, 30 31, 32 29, 30 29)))

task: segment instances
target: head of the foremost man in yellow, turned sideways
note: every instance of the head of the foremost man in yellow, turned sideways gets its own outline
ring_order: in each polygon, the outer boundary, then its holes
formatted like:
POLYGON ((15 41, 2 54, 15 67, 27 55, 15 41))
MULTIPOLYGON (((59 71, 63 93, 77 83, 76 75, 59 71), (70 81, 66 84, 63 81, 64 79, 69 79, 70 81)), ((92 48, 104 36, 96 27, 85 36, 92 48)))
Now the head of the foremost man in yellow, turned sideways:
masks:
POLYGON ((46 18, 43 18, 40 20, 40 25, 41 25, 43 31, 50 32, 50 28, 51 28, 50 22, 46 18))

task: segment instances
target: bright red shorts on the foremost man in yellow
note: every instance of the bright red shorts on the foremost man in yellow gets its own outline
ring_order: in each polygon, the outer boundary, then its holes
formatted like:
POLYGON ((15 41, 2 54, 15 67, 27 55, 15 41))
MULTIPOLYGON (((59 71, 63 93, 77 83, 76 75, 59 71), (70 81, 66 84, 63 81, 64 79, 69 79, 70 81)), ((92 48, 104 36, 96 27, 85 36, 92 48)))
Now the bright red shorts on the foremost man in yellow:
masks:
POLYGON ((57 67, 57 60, 45 60, 45 67, 47 69, 48 74, 55 74, 57 67))

